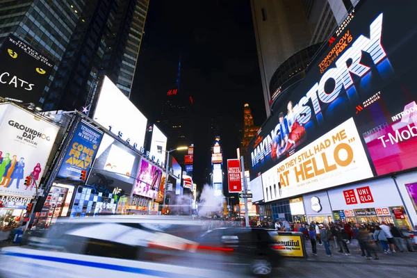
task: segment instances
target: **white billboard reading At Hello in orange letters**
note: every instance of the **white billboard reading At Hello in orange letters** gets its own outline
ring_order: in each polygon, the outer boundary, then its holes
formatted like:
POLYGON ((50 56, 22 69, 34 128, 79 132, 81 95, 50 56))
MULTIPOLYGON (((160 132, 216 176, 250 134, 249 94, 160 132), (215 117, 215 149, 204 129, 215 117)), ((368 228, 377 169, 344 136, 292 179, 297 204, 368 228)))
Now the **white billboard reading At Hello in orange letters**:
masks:
POLYGON ((262 174, 265 202, 373 177, 350 119, 262 174))

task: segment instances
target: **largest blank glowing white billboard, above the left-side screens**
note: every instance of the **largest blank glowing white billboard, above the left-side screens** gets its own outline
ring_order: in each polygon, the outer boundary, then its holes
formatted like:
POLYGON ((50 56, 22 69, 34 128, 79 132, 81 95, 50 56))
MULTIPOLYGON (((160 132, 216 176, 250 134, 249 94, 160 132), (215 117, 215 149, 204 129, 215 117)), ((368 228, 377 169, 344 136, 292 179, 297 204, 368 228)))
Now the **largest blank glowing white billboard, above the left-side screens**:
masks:
POLYGON ((147 118, 104 77, 93 119, 134 147, 143 147, 147 118))

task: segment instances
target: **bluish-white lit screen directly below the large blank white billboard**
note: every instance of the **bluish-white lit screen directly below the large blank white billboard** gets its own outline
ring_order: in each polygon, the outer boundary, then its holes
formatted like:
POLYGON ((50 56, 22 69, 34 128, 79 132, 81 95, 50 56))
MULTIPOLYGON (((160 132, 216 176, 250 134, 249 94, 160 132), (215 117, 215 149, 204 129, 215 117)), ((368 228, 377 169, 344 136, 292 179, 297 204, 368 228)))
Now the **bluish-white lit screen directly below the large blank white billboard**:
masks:
POLYGON ((129 195, 137 177, 139 161, 136 152, 104 133, 87 184, 100 188, 117 187, 129 195))

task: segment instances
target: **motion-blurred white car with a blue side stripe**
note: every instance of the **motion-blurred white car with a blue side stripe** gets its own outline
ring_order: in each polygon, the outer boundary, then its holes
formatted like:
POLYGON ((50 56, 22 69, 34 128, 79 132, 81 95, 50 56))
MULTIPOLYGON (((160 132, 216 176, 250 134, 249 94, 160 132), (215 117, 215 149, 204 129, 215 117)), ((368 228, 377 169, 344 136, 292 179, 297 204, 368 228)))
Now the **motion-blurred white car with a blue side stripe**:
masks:
POLYGON ((0 277, 230 277, 202 263, 195 241, 177 236, 202 229, 198 220, 172 218, 59 220, 26 245, 3 248, 0 277))

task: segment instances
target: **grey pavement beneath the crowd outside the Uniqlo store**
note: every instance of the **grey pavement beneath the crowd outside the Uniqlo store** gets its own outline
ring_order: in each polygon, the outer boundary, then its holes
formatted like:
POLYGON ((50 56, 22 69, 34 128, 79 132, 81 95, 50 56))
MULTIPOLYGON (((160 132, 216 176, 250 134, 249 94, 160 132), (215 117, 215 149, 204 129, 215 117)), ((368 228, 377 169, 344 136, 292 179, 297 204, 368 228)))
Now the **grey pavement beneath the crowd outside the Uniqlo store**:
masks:
MULTIPOLYGON (((396 265, 396 266, 412 266, 417 265, 417 252, 398 252, 391 254, 384 254, 384 252, 377 252, 379 260, 366 259, 361 256, 361 250, 354 245, 348 245, 351 256, 345 256, 343 253, 338 253, 338 247, 331 249, 332 256, 326 256, 325 247, 317 245, 317 256, 313 256, 311 251, 310 241, 304 241, 306 252, 308 254, 307 261, 325 262, 325 263, 350 263, 350 264, 370 264, 370 265, 396 265)), ((334 242, 332 243, 334 246, 334 242)), ((373 256, 374 258, 374 256, 373 256)))

